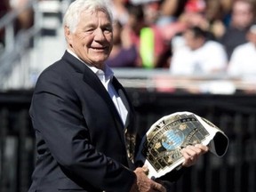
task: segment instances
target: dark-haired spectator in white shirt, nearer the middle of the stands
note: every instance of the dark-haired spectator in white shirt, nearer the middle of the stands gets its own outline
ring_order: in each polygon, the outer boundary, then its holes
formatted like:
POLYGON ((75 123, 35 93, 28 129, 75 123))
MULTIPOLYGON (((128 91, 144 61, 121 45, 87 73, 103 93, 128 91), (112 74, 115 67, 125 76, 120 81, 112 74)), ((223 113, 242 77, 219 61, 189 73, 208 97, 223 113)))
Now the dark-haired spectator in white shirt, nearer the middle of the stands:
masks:
POLYGON ((204 30, 188 28, 183 36, 185 45, 173 52, 172 75, 211 75, 225 70, 228 60, 224 48, 208 40, 204 30))

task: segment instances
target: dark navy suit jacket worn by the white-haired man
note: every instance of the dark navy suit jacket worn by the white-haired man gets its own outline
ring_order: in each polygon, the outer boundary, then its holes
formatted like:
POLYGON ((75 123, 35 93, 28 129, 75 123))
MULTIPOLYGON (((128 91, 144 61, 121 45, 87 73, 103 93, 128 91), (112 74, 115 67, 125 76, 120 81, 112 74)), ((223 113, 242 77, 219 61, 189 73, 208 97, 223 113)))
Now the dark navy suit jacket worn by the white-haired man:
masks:
POLYGON ((128 109, 125 126, 98 76, 68 52, 39 76, 30 108, 37 158, 29 192, 130 190, 133 110, 115 77, 113 84, 128 109))

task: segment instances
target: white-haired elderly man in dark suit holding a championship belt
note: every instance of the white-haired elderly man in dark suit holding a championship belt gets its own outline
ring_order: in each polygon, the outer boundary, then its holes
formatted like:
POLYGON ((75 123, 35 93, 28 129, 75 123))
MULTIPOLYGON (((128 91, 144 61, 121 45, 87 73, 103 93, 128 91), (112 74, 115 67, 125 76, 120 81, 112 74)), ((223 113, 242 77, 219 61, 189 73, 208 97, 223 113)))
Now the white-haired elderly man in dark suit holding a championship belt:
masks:
MULTIPOLYGON (((140 139, 132 105, 104 65, 113 41, 106 3, 76 0, 64 30, 67 52, 39 76, 31 103, 37 158, 29 192, 166 191, 134 165, 140 139)), ((185 148, 183 165, 207 150, 185 148)))

